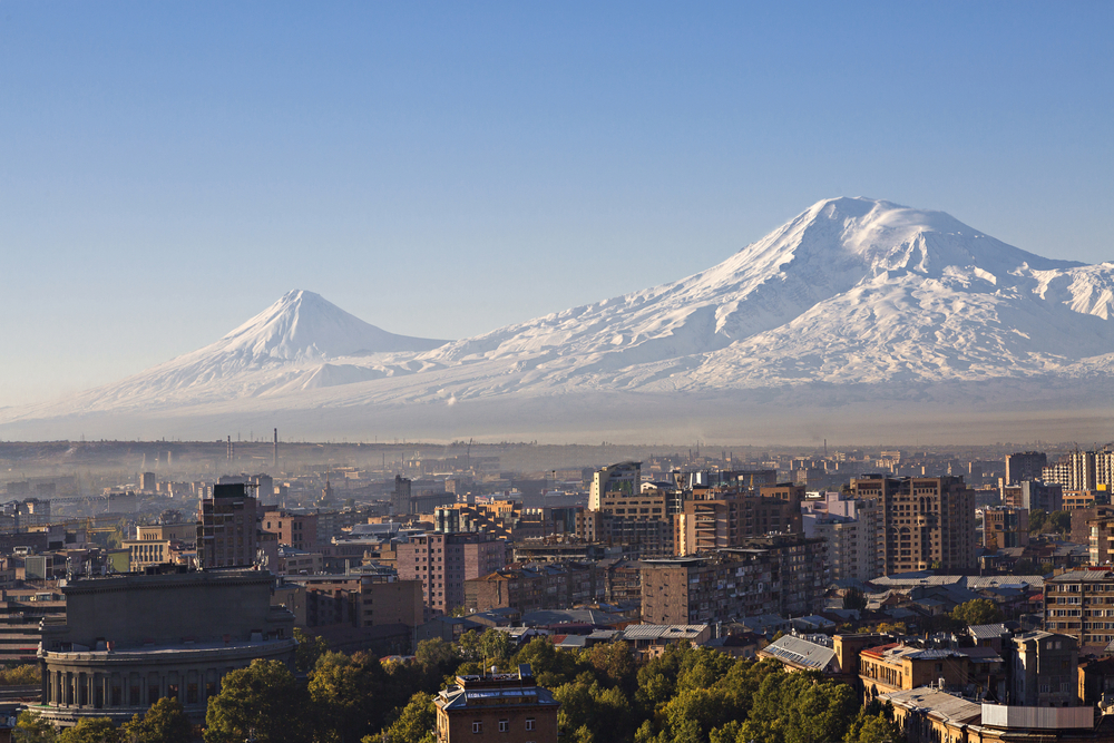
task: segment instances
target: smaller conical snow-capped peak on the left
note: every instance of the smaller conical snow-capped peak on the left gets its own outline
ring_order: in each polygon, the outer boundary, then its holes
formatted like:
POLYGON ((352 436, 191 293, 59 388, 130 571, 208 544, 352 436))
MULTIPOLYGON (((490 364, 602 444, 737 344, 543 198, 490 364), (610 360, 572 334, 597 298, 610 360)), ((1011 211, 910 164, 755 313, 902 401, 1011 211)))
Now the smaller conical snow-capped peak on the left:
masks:
POLYGON ((320 294, 292 290, 207 350, 236 356, 293 361, 428 351, 443 343, 388 333, 344 312, 320 294))

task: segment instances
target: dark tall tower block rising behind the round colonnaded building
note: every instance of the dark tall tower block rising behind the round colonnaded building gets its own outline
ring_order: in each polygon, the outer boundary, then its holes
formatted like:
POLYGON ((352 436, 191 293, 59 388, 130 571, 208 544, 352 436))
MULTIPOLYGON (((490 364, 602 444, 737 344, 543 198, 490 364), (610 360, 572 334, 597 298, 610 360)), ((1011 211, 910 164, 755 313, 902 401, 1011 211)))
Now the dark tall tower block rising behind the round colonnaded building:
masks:
POLYGON ((255 563, 256 500, 242 482, 214 485, 197 509, 197 565, 203 568, 255 563))

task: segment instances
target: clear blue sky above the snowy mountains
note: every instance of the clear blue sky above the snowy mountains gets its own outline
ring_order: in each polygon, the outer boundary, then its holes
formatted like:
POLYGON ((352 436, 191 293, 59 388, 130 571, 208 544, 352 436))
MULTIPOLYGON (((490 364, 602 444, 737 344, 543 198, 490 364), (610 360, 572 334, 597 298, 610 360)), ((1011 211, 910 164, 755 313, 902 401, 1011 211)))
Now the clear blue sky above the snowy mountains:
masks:
POLYGON ((0 405, 290 289, 462 338, 812 203, 1114 260, 1112 2, 0 0, 0 405))

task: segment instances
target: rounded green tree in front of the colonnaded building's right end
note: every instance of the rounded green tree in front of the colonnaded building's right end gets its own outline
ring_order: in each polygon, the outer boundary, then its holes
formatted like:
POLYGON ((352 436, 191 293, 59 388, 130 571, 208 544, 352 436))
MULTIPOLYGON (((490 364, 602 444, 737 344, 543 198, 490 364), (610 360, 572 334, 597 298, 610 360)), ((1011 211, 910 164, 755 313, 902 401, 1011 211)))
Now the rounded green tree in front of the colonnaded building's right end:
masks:
POLYGON ((280 661, 252 661, 221 682, 205 714, 205 743, 303 743, 310 739, 306 692, 280 661))

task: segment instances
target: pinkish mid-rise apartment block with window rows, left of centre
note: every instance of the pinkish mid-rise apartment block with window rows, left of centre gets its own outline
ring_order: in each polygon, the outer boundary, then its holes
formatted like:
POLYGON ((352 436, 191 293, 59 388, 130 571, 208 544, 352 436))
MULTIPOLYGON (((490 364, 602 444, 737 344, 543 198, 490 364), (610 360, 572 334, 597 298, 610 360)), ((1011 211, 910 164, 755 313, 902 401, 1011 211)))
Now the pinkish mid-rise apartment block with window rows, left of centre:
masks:
POLYGON ((427 619, 465 605, 465 580, 507 564, 507 542, 489 534, 432 531, 398 546, 399 578, 422 585, 427 619))

